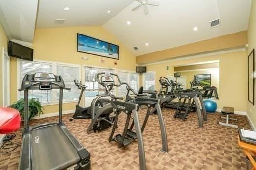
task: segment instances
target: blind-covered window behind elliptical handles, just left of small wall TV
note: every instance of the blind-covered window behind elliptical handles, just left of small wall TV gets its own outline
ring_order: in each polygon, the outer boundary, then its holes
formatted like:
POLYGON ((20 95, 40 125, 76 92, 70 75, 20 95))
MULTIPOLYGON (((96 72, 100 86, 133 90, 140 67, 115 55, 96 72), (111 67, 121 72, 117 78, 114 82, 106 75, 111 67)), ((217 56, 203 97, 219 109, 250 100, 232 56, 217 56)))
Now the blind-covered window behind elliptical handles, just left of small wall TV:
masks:
MULTIPOLYGON (((118 71, 118 76, 122 82, 128 83, 135 92, 138 91, 138 74, 129 71, 118 71)), ((118 96, 125 96, 127 94, 126 85, 118 87, 118 96)))

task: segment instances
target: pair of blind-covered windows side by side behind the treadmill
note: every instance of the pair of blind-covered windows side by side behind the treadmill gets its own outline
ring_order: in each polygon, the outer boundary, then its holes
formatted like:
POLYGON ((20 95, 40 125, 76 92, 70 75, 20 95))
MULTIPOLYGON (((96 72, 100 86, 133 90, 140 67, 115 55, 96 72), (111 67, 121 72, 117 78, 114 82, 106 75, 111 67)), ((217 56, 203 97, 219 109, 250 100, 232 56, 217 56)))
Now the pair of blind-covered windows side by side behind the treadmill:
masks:
MULTIPOLYGON (((59 64, 56 62, 41 62, 41 61, 24 61, 20 60, 20 84, 25 74, 34 74, 36 72, 53 73, 60 75, 66 87, 71 88, 71 91, 63 91, 63 102, 76 102, 79 98, 79 89, 74 84, 74 79, 80 80, 80 66, 71 64, 59 64)), ((24 93, 19 92, 19 99, 24 98, 24 93)), ((42 104, 57 104, 59 102, 59 90, 29 90, 29 98, 38 98, 42 104)))

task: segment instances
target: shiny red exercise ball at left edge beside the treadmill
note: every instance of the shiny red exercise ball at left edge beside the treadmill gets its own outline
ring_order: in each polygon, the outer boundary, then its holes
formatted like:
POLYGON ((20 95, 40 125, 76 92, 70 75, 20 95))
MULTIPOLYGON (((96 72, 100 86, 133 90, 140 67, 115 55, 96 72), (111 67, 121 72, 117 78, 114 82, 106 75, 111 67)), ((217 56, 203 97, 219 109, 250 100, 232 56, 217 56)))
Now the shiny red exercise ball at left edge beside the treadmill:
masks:
POLYGON ((20 112, 9 107, 0 107, 0 134, 15 132, 20 128, 20 112))

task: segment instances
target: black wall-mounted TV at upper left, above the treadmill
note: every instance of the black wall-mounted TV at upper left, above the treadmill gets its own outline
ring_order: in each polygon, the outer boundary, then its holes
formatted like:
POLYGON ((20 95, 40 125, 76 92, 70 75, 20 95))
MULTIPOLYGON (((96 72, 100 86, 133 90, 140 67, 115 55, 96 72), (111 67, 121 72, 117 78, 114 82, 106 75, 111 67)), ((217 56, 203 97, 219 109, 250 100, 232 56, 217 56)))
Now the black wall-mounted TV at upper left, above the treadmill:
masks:
POLYGON ((23 60, 33 61, 33 49, 12 41, 9 41, 8 55, 23 60))

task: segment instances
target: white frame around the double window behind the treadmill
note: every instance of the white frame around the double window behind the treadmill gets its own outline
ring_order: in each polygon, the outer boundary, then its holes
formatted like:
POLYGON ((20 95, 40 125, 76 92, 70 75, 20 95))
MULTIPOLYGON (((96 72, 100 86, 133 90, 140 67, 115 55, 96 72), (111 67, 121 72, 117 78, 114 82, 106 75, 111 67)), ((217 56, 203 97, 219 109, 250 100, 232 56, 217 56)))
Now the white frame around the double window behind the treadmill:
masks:
MULTIPOLYGON (((28 60, 22 60, 22 59, 17 59, 17 96, 16 96, 16 100, 18 101, 20 99, 20 91, 18 91, 18 89, 21 86, 21 81, 23 79, 23 77, 20 77, 20 67, 21 67, 21 62, 29 62, 29 63, 44 63, 44 64, 49 64, 52 66, 52 71, 51 73, 55 74, 57 73, 57 66, 66 66, 66 67, 78 67, 79 68, 79 79, 81 80, 81 65, 79 64, 73 64, 73 63, 62 63, 62 62, 54 62, 54 61, 47 61, 47 60, 38 60, 38 59, 34 59, 33 61, 28 61, 28 60)), ((57 93, 51 93, 51 97, 53 99, 53 102, 50 102, 49 104, 47 103, 42 103, 42 106, 48 106, 48 105, 58 105, 59 102, 57 102, 57 93)), ((74 101, 67 101, 64 102, 63 104, 66 103, 74 103, 74 102, 78 102, 78 100, 74 100, 74 101)))

